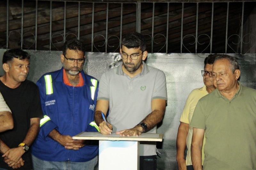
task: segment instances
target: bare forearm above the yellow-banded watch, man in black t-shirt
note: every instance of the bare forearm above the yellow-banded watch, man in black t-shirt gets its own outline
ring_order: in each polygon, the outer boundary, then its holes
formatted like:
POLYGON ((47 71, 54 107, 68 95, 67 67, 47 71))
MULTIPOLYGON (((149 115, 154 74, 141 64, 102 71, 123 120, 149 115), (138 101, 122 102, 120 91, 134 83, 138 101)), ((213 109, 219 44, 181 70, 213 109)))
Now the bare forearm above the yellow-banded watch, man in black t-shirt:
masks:
POLYGON ((25 139, 23 140, 23 143, 25 143, 29 146, 33 143, 33 141, 35 140, 36 135, 40 129, 39 124, 40 124, 39 121, 30 124, 30 128, 28 129, 27 135, 26 135, 25 139))

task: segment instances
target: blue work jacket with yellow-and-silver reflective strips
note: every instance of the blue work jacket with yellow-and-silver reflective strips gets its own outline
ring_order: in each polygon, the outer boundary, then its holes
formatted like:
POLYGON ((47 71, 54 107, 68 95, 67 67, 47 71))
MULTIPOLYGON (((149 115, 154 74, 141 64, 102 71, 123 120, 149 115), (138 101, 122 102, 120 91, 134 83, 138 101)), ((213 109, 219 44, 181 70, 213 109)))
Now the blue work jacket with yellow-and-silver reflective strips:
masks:
POLYGON ((98 145, 85 145, 79 150, 65 149, 48 134, 56 129, 62 135, 75 136, 83 131, 97 131, 90 125, 94 120, 94 108, 99 82, 81 72, 82 87, 64 84, 63 68, 44 74, 36 83, 40 91, 44 118, 40 131, 32 145, 32 154, 46 161, 86 162, 97 156, 98 145))

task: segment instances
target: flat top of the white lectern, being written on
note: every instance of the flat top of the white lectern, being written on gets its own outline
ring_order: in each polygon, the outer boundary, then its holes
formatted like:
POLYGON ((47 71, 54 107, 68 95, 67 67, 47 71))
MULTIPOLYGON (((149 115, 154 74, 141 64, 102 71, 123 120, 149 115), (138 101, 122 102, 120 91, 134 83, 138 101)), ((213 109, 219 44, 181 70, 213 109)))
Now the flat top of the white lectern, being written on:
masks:
POLYGON ((126 140, 126 141, 163 141, 164 134, 162 133, 142 133, 140 136, 129 136, 122 137, 116 133, 112 135, 102 135, 100 132, 81 132, 75 136, 73 139, 87 139, 87 140, 126 140))

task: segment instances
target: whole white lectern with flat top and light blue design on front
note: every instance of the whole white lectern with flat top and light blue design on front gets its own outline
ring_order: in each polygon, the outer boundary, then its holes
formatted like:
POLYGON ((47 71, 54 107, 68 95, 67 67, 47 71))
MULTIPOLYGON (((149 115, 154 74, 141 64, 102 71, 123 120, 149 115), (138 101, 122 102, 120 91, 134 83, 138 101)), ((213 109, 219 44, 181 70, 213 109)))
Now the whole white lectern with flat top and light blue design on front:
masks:
POLYGON ((140 141, 163 141, 163 134, 142 133, 140 136, 121 137, 100 132, 81 132, 73 139, 99 140, 99 170, 139 170, 140 141))

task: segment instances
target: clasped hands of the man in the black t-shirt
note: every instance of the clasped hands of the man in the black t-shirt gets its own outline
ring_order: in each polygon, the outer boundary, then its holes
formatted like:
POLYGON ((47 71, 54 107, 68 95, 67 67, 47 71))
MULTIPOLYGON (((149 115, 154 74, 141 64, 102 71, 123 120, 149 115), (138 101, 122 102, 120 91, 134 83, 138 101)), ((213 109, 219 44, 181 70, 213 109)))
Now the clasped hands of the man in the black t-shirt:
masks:
POLYGON ((4 157, 4 162, 7 163, 10 167, 14 166, 18 162, 21 156, 25 153, 23 146, 16 148, 11 148, 6 151, 2 157, 4 157))

